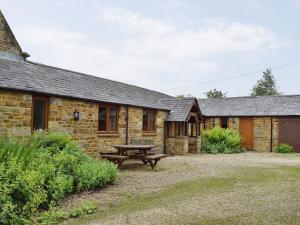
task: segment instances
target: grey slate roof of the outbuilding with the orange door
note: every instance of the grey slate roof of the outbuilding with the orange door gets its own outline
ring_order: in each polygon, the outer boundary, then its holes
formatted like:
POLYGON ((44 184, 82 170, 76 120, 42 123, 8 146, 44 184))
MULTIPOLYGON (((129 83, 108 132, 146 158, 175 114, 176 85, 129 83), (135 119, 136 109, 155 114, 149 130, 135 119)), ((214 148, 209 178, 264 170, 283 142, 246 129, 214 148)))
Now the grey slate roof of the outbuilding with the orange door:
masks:
POLYGON ((198 99, 204 116, 298 116, 300 95, 198 99))

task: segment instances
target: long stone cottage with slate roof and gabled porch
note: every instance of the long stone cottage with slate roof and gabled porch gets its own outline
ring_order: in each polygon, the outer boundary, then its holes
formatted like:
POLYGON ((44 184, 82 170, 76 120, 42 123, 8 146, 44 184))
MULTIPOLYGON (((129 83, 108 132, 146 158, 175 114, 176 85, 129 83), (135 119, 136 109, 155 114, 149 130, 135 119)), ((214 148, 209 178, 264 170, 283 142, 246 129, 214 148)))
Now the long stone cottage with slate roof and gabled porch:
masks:
POLYGON ((28 57, 0 11, 0 133, 68 132, 95 156, 114 144, 136 142, 170 154, 187 153, 189 146, 190 152, 200 151, 196 98, 175 99, 28 57), (175 133, 167 134, 171 126, 175 133))

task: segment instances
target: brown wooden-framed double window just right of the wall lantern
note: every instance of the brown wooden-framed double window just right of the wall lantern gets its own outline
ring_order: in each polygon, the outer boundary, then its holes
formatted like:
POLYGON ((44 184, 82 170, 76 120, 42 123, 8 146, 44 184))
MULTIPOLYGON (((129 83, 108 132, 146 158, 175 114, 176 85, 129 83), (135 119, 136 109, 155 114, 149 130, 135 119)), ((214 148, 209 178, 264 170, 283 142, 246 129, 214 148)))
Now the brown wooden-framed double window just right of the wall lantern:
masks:
POLYGON ((100 106, 98 118, 100 132, 118 132, 118 108, 116 106, 100 106))

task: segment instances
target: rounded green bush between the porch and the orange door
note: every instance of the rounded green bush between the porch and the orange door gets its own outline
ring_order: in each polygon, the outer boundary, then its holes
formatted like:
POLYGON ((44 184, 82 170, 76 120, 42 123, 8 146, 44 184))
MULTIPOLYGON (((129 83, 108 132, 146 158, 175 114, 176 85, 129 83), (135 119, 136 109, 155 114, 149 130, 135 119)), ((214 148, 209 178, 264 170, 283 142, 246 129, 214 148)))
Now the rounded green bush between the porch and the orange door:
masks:
POLYGON ((244 152, 242 139, 232 129, 213 128, 202 133, 202 150, 211 154, 244 152))

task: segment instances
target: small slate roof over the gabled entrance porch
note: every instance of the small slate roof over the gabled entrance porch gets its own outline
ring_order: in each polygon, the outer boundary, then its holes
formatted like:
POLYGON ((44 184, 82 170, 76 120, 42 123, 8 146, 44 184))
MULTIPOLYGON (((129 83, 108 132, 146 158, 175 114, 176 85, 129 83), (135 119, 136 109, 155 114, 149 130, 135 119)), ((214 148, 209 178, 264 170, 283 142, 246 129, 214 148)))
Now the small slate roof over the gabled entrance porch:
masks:
POLYGON ((171 109, 166 121, 186 121, 196 98, 164 99, 163 103, 171 109))

